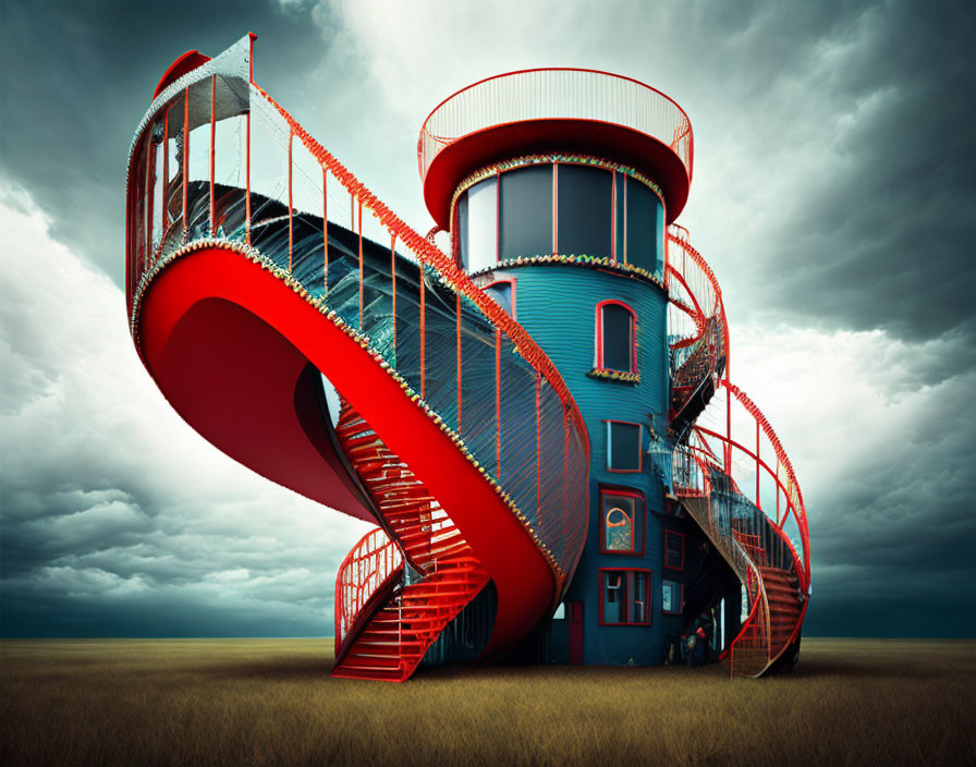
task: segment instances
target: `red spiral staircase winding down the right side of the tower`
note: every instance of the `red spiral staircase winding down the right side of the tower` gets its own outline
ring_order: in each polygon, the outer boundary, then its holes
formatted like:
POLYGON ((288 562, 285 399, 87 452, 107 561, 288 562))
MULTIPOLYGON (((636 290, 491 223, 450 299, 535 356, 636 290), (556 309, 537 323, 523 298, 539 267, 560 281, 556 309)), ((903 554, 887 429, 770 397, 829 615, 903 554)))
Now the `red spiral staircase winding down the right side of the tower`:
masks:
POLYGON ((721 290, 683 227, 669 230, 666 271, 673 491, 743 583, 748 614, 723 659, 733 675, 759 677, 796 661, 810 594, 806 510, 779 438, 730 382, 721 290))

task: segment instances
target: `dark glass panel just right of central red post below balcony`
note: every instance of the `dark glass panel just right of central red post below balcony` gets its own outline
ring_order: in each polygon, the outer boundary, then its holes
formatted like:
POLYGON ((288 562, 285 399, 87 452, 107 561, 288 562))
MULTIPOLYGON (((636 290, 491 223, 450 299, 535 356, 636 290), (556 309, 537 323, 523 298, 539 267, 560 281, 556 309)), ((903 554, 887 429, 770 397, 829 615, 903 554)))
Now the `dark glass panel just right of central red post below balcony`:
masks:
POLYGON ((609 256, 613 173, 601 168, 560 163, 558 186, 559 252, 609 256))

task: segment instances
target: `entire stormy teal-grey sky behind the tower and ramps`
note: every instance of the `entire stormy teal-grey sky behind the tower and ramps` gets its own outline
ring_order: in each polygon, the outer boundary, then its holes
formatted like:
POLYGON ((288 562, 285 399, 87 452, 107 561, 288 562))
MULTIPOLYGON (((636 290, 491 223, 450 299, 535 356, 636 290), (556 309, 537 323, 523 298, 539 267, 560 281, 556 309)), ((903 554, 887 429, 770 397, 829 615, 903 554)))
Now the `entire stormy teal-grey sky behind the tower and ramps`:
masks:
POLYGON ((330 635, 368 527, 235 464, 127 336, 132 131, 183 51, 255 78, 418 231, 429 109, 587 66, 695 130, 681 222, 810 519, 809 635, 976 634, 976 5, 2 0, 0 631, 330 635))

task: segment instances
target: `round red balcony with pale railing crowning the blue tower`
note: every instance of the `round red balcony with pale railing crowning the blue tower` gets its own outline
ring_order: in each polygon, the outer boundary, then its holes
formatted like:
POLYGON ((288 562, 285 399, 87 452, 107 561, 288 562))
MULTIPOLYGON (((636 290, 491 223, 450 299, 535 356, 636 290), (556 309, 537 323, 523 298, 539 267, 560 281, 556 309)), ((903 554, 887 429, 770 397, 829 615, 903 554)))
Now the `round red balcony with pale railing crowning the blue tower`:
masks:
POLYGON ((466 175, 550 151, 594 155, 645 173, 661 186, 669 222, 687 200, 692 123, 671 98, 608 72, 537 69, 468 85, 430 112, 417 142, 427 209, 448 229, 451 197, 466 175))

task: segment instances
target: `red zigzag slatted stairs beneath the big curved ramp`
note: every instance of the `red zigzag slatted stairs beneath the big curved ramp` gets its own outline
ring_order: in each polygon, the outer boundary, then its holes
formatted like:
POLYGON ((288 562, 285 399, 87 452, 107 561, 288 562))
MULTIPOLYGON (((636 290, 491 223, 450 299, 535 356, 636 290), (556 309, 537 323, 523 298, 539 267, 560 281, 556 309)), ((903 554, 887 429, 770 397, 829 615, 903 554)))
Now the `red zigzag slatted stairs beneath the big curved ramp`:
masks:
POLYGON ((358 631, 337 652, 332 675, 402 682, 488 584, 488 574, 410 467, 344 401, 335 434, 387 534, 418 580, 396 589, 373 608, 368 620, 358 622, 358 631))

